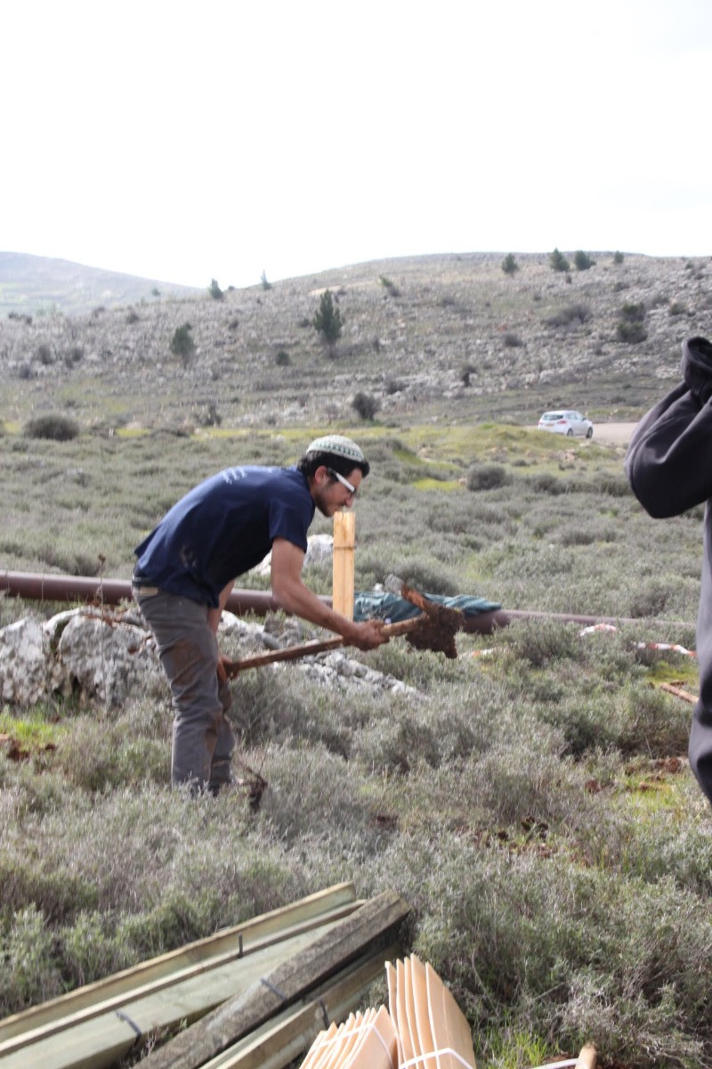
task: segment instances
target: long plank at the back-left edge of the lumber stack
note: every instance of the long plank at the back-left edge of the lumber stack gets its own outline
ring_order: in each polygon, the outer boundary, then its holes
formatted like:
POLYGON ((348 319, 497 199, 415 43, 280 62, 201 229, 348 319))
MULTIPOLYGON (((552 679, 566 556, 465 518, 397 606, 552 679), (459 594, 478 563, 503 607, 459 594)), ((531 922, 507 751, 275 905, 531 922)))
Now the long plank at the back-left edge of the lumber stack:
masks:
MULTIPOLYGON (((242 925, 226 928, 203 940, 196 940, 171 950, 168 954, 148 961, 141 962, 132 969, 114 973, 102 980, 88 983, 76 991, 70 991, 58 998, 52 998, 38 1006, 14 1013, 0 1021, 0 1056, 3 1043, 14 1036, 42 1027, 53 1021, 61 1020, 84 1008, 91 1008, 99 1003, 117 1000, 116 1005, 133 996, 133 992, 160 981, 163 977, 172 977, 180 970, 191 966, 206 966, 211 959, 224 956, 240 956, 249 954, 252 948, 264 945, 265 939, 271 933, 278 934, 289 928, 308 924, 332 910, 344 905, 357 905, 357 897, 351 882, 335 884, 325 890, 308 895, 297 902, 272 910, 248 920, 242 925)), ((102 1012, 100 1008, 98 1012, 102 1012)))

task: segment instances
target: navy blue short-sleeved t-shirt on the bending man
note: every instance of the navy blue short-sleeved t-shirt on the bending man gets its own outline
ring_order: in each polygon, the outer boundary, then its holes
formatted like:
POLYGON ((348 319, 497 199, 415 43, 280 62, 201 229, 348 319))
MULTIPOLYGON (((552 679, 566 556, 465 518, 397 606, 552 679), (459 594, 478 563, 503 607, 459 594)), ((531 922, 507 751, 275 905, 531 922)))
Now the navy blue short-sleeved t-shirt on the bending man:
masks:
POLYGON ((286 539, 306 553, 314 518, 308 481, 296 467, 233 467, 206 479, 167 512, 133 551, 157 587, 218 606, 220 591, 286 539))

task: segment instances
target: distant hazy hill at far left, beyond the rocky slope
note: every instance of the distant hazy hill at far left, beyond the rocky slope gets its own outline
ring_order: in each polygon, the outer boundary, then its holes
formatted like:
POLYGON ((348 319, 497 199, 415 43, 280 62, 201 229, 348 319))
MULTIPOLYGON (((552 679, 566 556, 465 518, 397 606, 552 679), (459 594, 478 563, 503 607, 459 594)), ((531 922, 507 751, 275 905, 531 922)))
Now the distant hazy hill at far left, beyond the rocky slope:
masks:
MULTIPOLYGON (((209 279, 206 281, 208 284, 209 279)), ((0 252, 0 315, 78 315, 97 305, 113 308, 155 301, 161 294, 188 296, 199 291, 156 279, 99 270, 68 260, 0 252)))

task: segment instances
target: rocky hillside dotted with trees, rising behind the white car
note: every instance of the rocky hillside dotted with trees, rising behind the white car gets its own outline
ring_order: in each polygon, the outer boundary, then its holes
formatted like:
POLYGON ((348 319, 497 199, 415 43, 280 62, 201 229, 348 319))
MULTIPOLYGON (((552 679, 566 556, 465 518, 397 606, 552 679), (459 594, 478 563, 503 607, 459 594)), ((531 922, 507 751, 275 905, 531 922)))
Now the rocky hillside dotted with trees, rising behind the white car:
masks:
POLYGON ((508 276, 500 254, 431 255, 222 299, 14 313, 0 320, 0 418, 67 408, 86 428, 318 424, 352 420, 362 391, 395 425, 416 410, 527 424, 561 404, 595 421, 634 419, 677 375, 681 340, 709 330, 709 261, 592 259, 557 273, 548 254, 518 255, 508 276), (327 288, 345 321, 333 353, 313 327, 327 288), (185 324, 195 351, 179 360, 170 345, 185 324))

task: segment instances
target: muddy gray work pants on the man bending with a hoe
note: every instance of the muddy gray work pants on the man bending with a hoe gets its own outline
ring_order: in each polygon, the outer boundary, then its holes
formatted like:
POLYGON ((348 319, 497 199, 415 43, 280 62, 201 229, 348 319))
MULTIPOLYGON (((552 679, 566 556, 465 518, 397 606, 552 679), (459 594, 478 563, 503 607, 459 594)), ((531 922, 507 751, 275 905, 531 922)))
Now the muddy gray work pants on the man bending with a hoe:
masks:
POLYGON ((225 715, 230 687, 218 680, 218 640, 208 626, 208 607, 156 587, 135 587, 133 597, 171 685, 171 783, 217 793, 233 779, 235 735, 225 715))

